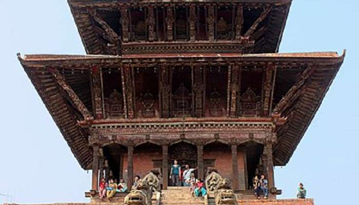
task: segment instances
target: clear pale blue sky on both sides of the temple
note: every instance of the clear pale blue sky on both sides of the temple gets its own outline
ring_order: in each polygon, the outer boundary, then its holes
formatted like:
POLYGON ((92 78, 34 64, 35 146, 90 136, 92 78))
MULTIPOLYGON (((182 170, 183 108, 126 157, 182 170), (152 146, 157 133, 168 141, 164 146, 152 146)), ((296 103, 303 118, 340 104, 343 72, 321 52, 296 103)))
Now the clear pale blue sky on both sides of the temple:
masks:
MULTIPOLYGON (((16 58, 85 53, 67 1, 0 3, 0 194, 17 203, 88 201, 91 173, 79 167, 16 58)), ((280 52, 347 49, 347 56, 290 162, 275 168, 280 198, 295 197, 298 182, 315 204, 349 204, 358 196, 357 8, 354 0, 293 1, 280 52)), ((0 195, 0 203, 9 200, 0 195)))

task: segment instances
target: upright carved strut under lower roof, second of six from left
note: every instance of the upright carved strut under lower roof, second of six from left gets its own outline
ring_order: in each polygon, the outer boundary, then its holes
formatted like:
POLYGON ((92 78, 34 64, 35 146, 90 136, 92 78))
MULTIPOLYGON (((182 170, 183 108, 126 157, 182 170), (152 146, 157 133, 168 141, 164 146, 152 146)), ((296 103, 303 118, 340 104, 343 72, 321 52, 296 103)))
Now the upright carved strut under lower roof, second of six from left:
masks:
POLYGON ((122 86, 124 95, 124 111, 126 118, 134 118, 134 80, 133 68, 129 65, 124 65, 122 71, 122 86))

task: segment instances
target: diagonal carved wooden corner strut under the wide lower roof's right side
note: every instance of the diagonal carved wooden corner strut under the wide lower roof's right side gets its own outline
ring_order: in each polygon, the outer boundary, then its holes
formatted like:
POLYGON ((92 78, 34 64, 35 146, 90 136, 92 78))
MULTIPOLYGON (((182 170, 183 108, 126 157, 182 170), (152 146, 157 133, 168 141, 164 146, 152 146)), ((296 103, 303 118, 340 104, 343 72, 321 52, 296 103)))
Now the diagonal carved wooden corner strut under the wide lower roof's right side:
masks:
POLYGON ((274 113, 280 113, 291 105, 291 103, 301 94, 300 92, 301 87, 304 85, 305 81, 314 71, 315 71, 314 66, 310 66, 305 71, 303 71, 298 81, 294 84, 293 87, 289 89, 287 94, 275 106, 273 110, 274 113))

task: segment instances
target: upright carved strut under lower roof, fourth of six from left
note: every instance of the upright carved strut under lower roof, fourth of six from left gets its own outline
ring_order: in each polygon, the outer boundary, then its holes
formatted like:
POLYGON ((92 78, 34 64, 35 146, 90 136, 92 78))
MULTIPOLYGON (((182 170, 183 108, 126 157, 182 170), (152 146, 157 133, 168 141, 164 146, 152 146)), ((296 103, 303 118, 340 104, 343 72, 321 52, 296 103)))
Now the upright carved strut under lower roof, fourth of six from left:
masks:
POLYGON ((194 93, 194 115, 196 117, 202 117, 204 114, 204 69, 201 66, 195 66, 192 68, 193 74, 193 93, 194 93))

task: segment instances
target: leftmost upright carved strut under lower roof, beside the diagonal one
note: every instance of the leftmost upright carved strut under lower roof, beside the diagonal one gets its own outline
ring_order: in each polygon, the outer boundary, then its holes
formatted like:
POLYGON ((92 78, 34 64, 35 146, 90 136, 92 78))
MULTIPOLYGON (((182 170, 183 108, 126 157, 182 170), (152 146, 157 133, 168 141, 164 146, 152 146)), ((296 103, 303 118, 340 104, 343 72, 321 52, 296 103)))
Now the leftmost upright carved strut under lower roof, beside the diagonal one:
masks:
POLYGON ((101 78, 101 68, 92 67, 92 74, 91 74, 91 88, 92 88, 92 105, 93 105, 93 112, 96 119, 104 117, 104 106, 103 106, 103 99, 102 99, 102 78, 101 78))

